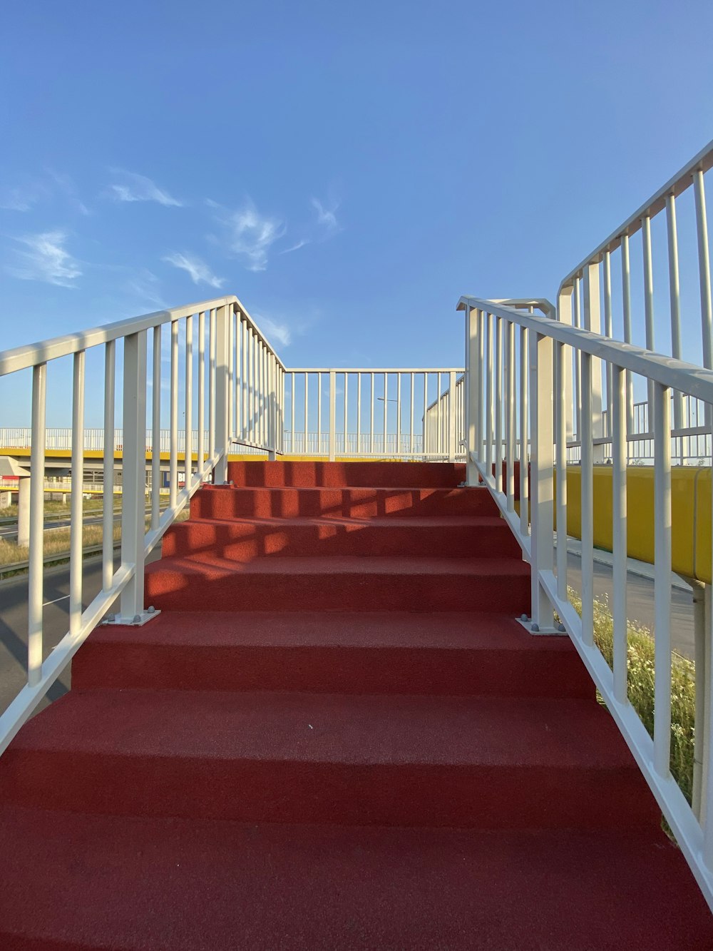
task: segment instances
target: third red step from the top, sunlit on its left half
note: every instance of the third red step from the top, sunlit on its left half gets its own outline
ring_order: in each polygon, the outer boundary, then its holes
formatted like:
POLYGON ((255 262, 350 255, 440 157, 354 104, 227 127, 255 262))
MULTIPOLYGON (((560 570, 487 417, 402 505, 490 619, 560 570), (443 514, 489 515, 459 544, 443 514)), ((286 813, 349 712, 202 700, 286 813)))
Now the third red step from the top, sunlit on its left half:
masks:
POLYGON ((282 555, 437 555, 521 557, 502 518, 191 518, 164 534, 164 557, 212 552, 230 561, 282 555))

